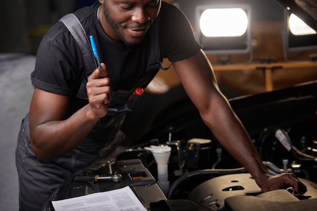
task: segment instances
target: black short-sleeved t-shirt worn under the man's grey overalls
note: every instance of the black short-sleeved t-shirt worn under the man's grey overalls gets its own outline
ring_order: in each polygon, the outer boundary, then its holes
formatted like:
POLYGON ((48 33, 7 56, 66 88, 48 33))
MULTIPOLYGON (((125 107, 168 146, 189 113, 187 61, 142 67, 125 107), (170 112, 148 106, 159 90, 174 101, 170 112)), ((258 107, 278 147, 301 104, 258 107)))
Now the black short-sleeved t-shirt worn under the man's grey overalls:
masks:
MULTIPOLYGON (((96 2, 80 10, 87 35, 93 35, 101 62, 107 66, 113 90, 130 90, 144 73, 149 52, 149 36, 134 46, 127 46, 109 38, 98 19, 96 2)), ((78 14, 78 13, 77 13, 78 14)), ((192 28, 175 6, 162 2, 160 10, 161 60, 171 62, 193 56, 201 46, 195 40, 192 28)), ((74 96, 80 86, 85 68, 81 51, 62 22, 56 23, 44 36, 38 48, 32 83, 39 89, 61 95, 74 96)))

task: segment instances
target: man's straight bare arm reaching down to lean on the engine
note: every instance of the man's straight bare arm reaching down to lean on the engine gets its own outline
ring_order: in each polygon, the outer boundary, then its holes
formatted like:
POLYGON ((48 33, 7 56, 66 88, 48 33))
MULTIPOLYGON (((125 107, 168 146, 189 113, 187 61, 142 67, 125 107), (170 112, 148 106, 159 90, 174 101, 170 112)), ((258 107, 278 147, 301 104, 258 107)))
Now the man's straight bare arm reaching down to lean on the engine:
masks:
MULTIPOLYGON (((253 176, 263 192, 294 182, 292 178, 288 180, 288 174, 277 178, 268 173, 243 124, 219 91, 211 64, 202 51, 189 59, 175 62, 174 67, 205 124, 221 145, 253 176)), ((296 191, 305 192, 305 187, 298 183, 292 183, 296 191)))

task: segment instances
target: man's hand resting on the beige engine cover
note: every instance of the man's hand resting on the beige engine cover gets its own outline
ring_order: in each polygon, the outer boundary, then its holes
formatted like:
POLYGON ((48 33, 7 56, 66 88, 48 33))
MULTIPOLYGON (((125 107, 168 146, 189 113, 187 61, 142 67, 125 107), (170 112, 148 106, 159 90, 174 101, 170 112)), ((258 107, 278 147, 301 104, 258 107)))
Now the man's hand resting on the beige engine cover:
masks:
POLYGON ((307 191, 306 186, 293 173, 269 176, 267 181, 263 183, 261 191, 264 193, 272 190, 287 189, 289 187, 293 187, 296 194, 304 194, 307 191))

